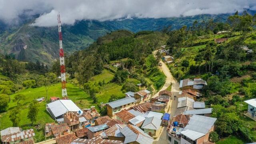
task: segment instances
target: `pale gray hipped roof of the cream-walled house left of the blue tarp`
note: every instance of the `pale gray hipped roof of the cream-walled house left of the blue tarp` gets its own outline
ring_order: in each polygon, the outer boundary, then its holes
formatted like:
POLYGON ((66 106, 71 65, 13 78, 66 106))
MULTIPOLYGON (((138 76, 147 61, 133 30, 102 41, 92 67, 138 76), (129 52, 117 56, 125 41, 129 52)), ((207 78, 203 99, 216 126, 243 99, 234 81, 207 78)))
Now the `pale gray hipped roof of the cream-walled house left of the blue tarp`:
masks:
POLYGON ((162 120, 156 117, 146 118, 143 122, 141 128, 150 129, 150 130, 158 130, 160 128, 162 120))

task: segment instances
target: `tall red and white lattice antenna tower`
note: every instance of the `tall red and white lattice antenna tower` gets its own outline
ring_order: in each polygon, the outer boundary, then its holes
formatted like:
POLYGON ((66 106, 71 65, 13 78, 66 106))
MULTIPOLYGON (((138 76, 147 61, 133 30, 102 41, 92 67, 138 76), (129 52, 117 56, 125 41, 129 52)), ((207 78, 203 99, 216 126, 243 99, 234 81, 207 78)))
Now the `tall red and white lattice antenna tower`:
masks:
POLYGON ((60 77, 61 77, 61 86, 62 86, 62 99, 68 99, 68 93, 66 90, 66 74, 65 74, 65 62, 64 62, 64 51, 62 48, 62 33, 61 33, 61 24, 60 24, 60 12, 58 14, 58 30, 59 30, 59 39, 60 39, 60 77))

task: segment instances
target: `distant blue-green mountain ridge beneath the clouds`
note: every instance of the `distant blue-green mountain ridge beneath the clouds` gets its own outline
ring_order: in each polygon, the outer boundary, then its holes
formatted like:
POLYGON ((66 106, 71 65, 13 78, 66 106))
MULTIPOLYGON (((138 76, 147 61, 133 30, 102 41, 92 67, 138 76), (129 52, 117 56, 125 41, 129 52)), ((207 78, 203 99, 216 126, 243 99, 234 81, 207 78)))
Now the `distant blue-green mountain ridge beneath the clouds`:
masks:
MULTIPOLYGON (((198 22, 225 21, 230 14, 202 14, 179 18, 133 18, 99 22, 96 20, 82 20, 74 25, 63 25, 63 48, 66 54, 87 48, 97 38, 114 30, 125 29, 132 32, 142 30, 159 31, 164 26, 178 29, 183 25, 191 26, 198 22)), ((36 62, 51 65, 58 59, 58 28, 30 26, 33 20, 24 20, 24 24, 14 28, 5 27, 0 30, 0 53, 11 54, 21 61, 36 62)), ((3 26, 3 23, 0 22, 3 26)))

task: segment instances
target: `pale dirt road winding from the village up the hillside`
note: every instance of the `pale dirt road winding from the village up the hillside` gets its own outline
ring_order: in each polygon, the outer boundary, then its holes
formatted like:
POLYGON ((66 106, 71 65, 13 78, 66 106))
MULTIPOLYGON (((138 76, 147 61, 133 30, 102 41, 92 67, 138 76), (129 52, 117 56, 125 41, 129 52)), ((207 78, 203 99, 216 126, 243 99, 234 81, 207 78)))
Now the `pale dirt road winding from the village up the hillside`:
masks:
MULTIPOLYGON (((153 54, 155 56, 157 51, 154 51, 153 54)), ((172 98, 168 104, 168 107, 170 106, 170 108, 168 108, 168 113, 170 114, 170 118, 172 118, 174 116, 174 113, 176 112, 177 109, 177 105, 178 105, 178 99, 176 98, 174 100, 174 96, 178 96, 179 93, 179 83, 177 82, 177 80, 172 76, 168 66, 162 62, 162 60, 160 61, 162 66, 159 66, 160 70, 164 73, 164 75, 166 76, 166 82, 164 84, 164 86, 162 87, 162 90, 165 90, 166 88, 168 88, 170 86, 170 84, 172 84, 172 98)), ((154 97, 157 97, 159 94, 159 92, 157 92, 154 97)), ((166 139, 166 128, 167 127, 162 127, 161 126, 161 130, 160 130, 160 136, 158 136, 158 138, 154 141, 153 144, 168 144, 167 139, 166 139)))

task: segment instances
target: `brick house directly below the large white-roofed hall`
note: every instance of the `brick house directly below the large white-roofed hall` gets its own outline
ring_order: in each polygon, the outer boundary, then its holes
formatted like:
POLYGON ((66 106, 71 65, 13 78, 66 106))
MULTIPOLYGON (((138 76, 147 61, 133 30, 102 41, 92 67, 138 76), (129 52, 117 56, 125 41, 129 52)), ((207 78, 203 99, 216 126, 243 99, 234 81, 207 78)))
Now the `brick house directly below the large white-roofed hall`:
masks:
POLYGON ((84 115, 79 114, 79 112, 66 112, 64 114, 64 123, 68 124, 73 132, 90 124, 84 115))

